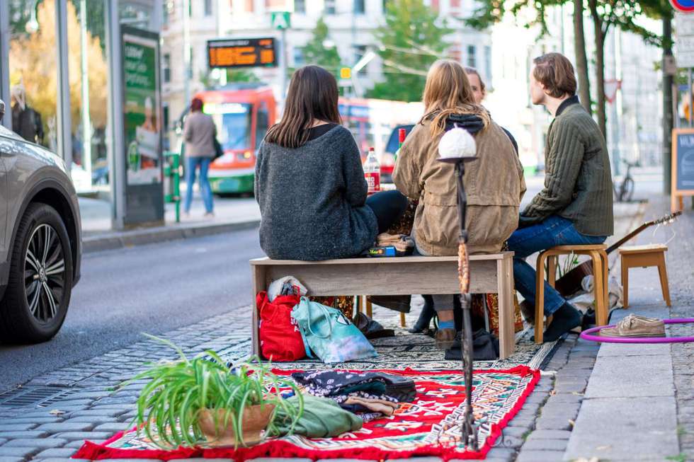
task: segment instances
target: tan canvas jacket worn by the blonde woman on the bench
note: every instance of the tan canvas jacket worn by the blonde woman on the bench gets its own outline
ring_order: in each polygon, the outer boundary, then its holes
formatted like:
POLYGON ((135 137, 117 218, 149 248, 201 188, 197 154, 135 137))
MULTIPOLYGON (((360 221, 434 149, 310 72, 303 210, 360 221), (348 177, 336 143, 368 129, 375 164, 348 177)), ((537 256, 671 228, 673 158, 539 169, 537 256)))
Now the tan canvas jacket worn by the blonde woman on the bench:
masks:
MULTIPOLYGON (((438 142, 429 122, 418 124, 400 149, 393 180, 407 197, 419 199, 412 233, 425 255, 457 255, 458 214, 455 168, 439 162, 438 142)), ((523 166, 506 133, 491 122, 474 135, 477 160, 465 164, 471 253, 496 253, 518 227, 518 207, 525 192, 523 166)))

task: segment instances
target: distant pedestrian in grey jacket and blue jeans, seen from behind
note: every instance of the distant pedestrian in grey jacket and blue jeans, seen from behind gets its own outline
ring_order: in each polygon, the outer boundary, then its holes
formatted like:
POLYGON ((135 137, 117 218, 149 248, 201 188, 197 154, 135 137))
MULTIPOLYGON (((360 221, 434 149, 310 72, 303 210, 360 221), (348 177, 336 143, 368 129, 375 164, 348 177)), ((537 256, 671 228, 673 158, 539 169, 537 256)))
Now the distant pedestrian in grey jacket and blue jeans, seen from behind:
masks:
POLYGON ((212 189, 207 180, 207 170, 215 157, 215 137, 217 128, 212 117, 203 114, 203 100, 193 98, 190 102, 190 114, 183 125, 183 139, 186 140, 186 202, 183 213, 190 214, 190 202, 193 200, 193 183, 195 170, 200 168, 200 194, 205 202, 205 216, 214 216, 212 189))

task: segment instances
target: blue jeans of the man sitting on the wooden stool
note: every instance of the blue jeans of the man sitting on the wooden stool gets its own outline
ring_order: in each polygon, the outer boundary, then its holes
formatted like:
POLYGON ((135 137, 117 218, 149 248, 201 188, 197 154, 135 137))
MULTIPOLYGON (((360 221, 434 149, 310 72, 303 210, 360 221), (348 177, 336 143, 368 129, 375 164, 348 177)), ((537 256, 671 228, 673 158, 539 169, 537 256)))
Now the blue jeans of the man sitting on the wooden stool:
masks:
MULTIPOLYGON (((516 280, 516 290, 525 300, 535 305, 535 270, 525 261, 530 255, 540 250, 555 246, 576 246, 601 244, 607 236, 586 236, 574 228, 571 221, 560 216, 552 215, 542 223, 519 228, 508 238, 508 250, 513 250, 513 279, 516 280)), ((550 284, 545 282, 545 316, 557 311, 566 299, 550 284)))

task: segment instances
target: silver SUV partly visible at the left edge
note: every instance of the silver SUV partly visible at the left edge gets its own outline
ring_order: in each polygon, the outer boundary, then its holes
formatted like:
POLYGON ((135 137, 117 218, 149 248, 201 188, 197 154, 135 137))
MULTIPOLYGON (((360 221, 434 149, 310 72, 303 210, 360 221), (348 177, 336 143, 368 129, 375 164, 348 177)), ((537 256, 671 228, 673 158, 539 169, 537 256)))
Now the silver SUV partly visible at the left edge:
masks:
POLYGON ((44 342, 58 332, 80 259, 65 163, 0 125, 0 342, 44 342))

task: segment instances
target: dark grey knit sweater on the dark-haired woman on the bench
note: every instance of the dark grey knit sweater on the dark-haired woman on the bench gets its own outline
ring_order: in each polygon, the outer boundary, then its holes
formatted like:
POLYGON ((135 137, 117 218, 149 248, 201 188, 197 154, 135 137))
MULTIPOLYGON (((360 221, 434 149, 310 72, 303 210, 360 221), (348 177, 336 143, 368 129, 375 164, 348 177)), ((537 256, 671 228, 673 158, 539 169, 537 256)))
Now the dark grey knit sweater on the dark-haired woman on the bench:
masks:
POLYGON ((341 125, 300 148, 263 142, 256 159, 261 248, 279 260, 329 260, 372 246, 359 149, 341 125))

